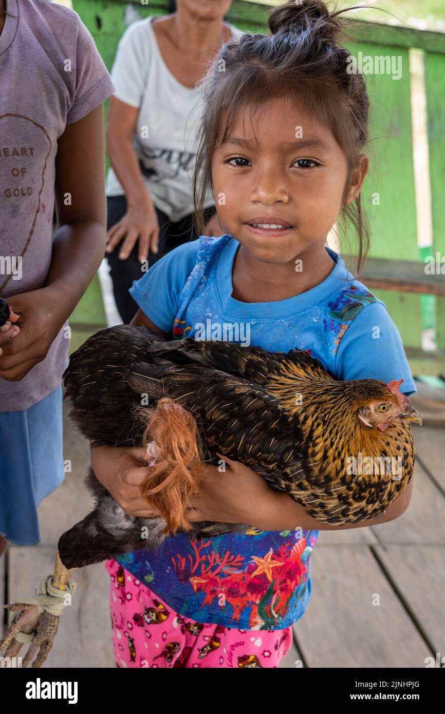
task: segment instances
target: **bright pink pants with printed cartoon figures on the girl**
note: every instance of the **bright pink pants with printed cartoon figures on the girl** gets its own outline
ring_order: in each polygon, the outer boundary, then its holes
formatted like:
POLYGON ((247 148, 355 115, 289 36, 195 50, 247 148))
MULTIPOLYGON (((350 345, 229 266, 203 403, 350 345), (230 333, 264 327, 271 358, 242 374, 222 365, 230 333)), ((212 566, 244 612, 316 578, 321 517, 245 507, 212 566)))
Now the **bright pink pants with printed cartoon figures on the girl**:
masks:
POLYGON ((278 667, 292 629, 236 630, 178 615, 116 560, 106 560, 118 667, 278 667), (118 572, 119 571, 119 572, 118 572))

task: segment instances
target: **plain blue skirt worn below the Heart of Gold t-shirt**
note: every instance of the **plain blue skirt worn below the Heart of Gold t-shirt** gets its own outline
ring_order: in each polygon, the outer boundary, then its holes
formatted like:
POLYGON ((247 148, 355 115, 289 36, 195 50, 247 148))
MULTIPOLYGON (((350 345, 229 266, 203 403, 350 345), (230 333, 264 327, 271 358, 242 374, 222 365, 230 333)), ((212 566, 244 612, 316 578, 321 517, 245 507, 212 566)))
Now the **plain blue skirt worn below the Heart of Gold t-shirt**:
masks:
POLYGON ((64 476, 60 385, 23 411, 0 412, 0 535, 39 543, 37 506, 64 476))

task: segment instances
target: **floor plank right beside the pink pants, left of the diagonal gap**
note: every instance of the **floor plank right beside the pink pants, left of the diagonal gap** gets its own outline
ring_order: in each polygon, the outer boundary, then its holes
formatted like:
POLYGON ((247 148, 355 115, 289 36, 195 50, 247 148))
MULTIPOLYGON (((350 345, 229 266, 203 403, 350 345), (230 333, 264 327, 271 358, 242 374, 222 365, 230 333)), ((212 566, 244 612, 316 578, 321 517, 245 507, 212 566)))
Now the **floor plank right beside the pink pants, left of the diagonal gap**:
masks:
POLYGON ((315 549, 311 584, 294 625, 308 667, 424 667, 431 652, 366 545, 315 549))

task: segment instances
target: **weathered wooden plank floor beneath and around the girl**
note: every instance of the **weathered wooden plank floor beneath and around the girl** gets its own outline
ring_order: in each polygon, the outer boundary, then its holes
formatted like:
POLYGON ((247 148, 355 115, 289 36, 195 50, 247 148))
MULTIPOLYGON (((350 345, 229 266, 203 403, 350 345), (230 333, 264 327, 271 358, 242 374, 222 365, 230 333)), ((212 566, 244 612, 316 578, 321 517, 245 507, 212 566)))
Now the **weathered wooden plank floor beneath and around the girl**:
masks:
MULTIPOLYGON (((89 511, 82 485, 89 451, 65 424, 64 458, 72 471, 39 507, 41 543, 9 546, 1 558, 0 600, 34 593, 53 570, 61 533, 89 511)), ((408 511, 374 528, 320 531, 311 556, 311 601, 281 667, 423 668, 429 655, 445 656, 445 429, 414 425, 413 431, 417 459, 408 511)), ((104 565, 90 565, 75 580, 73 604, 61 616, 46 666, 114 667, 109 575, 104 565)))

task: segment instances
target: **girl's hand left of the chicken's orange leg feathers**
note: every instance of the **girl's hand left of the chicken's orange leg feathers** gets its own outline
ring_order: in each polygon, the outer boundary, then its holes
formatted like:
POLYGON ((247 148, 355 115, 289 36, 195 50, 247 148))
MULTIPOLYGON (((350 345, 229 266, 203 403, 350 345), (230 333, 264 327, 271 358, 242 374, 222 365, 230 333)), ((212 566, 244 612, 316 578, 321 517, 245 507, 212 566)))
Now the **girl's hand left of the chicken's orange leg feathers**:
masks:
POLYGON ((156 518, 159 511, 151 509, 141 496, 141 485, 149 474, 153 457, 146 453, 146 448, 127 446, 92 446, 91 464, 99 481, 111 493, 128 516, 156 518))

